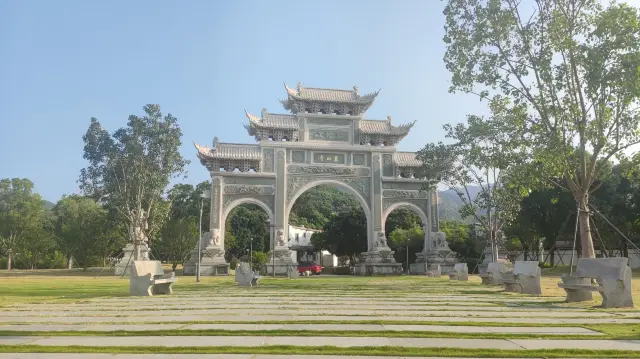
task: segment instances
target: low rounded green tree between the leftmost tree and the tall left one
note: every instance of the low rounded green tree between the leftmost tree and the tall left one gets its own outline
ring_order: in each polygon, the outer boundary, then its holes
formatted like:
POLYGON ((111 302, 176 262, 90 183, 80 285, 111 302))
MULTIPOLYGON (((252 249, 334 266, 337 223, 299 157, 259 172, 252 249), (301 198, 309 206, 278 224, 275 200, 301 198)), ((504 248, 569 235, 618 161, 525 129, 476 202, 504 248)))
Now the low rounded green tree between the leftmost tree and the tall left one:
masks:
POLYGON ((101 257, 108 244, 107 210, 88 197, 63 197, 53 208, 54 234, 71 269, 73 260, 87 269, 101 257))

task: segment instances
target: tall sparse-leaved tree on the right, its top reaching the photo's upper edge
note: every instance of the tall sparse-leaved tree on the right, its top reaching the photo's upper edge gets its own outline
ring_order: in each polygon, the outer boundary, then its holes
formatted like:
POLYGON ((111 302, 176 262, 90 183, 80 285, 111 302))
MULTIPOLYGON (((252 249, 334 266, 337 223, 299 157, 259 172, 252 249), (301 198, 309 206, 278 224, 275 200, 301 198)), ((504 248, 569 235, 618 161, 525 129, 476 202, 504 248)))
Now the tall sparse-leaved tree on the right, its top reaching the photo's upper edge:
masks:
POLYGON ((505 127, 524 132, 517 138, 530 144, 540 179, 563 178, 556 185, 580 208, 583 256, 594 257, 589 195, 602 166, 640 142, 637 9, 596 0, 449 0, 444 14, 450 90, 508 106, 505 127))

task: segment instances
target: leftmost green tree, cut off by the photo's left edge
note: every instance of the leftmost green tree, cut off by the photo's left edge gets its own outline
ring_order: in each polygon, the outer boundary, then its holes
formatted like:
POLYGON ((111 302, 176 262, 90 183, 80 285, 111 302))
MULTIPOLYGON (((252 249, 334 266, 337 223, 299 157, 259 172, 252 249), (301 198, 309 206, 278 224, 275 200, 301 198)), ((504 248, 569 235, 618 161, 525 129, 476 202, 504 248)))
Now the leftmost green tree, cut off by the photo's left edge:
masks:
POLYGON ((28 248, 28 240, 44 225, 45 209, 40 195, 33 192, 33 182, 26 178, 0 180, 0 250, 7 255, 7 270, 20 248, 28 248))

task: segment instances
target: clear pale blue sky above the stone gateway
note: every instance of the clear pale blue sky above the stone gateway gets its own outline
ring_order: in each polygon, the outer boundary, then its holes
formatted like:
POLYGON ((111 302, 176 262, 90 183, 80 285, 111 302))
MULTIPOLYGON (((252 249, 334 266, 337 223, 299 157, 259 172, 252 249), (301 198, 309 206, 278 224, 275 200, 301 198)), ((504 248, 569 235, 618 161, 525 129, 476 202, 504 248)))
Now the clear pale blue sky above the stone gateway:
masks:
POLYGON ((243 109, 284 112, 282 85, 382 88, 367 117, 417 120, 398 146, 443 139, 484 112, 448 93, 443 3, 396 1, 0 1, 0 178, 44 199, 78 191, 91 117, 109 131, 157 103, 180 121, 189 183, 208 178, 192 142, 253 143, 243 109))

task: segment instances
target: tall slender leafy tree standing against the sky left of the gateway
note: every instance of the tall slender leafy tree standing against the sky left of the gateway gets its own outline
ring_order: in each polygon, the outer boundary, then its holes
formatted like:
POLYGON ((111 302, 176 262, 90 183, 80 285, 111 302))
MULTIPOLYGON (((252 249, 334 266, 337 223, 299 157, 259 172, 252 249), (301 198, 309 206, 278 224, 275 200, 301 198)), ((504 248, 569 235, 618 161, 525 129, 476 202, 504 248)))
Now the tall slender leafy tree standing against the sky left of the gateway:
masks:
POLYGON ((170 180, 184 172, 188 163, 180 154, 182 131, 172 115, 163 116, 160 106, 147 105, 145 115, 130 115, 127 126, 112 135, 92 118, 84 140, 80 188, 115 210, 128 224, 129 239, 137 250, 144 237, 152 238, 169 214, 162 196, 170 180), (135 237, 135 238, 134 238, 135 237))

